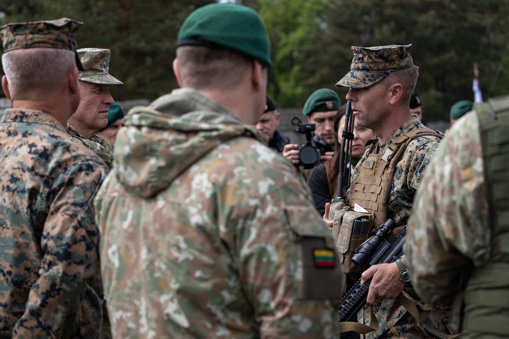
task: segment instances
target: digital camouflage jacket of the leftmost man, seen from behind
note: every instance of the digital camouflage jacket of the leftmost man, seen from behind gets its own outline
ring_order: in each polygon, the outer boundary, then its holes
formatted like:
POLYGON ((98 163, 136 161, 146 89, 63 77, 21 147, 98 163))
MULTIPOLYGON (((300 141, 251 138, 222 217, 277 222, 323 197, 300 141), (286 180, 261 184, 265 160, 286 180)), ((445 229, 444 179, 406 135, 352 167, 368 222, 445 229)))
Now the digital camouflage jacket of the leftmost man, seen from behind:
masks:
POLYGON ((36 110, 7 109, 0 144, 0 337, 97 338, 101 160, 36 110))

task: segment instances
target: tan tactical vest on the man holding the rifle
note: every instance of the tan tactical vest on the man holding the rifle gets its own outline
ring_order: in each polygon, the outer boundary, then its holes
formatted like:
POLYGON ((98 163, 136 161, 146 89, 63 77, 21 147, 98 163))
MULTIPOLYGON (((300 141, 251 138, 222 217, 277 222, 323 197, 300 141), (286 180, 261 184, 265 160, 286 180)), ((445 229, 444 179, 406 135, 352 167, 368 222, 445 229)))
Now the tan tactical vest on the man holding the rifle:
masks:
MULTIPOLYGON (((414 129, 405 134, 391 136, 392 143, 384 152, 376 153, 377 140, 372 140, 366 150, 367 157, 360 166, 360 173, 352 184, 348 195, 348 205, 355 203, 374 215, 374 225, 378 226, 387 220, 387 199, 392 188, 396 164, 403 158, 405 150, 413 139, 420 136, 442 138, 443 134, 428 128, 414 129)), ((398 233, 398 232, 396 232, 398 233)))

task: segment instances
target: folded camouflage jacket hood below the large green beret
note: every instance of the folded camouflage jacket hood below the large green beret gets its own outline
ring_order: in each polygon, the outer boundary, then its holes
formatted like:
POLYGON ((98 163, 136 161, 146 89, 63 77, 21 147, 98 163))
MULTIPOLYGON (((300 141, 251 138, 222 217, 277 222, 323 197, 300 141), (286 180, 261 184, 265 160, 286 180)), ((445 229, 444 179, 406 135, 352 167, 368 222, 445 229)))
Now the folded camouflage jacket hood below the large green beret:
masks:
POLYGON ((240 136, 265 140, 212 99, 193 89, 175 89, 129 111, 115 143, 114 173, 129 192, 148 198, 212 149, 240 136))

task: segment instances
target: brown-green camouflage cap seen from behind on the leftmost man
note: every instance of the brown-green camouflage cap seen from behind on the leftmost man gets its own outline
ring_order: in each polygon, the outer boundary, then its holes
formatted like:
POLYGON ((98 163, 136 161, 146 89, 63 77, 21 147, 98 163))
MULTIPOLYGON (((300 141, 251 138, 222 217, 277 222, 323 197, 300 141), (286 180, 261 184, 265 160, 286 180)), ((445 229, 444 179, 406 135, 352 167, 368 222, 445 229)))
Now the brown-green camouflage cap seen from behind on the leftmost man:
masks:
MULTIPOLYGON (((61 18, 56 20, 13 22, 0 27, 4 52, 21 48, 59 48, 76 52, 76 30, 82 22, 61 18)), ((76 54, 76 66, 83 69, 76 54)))

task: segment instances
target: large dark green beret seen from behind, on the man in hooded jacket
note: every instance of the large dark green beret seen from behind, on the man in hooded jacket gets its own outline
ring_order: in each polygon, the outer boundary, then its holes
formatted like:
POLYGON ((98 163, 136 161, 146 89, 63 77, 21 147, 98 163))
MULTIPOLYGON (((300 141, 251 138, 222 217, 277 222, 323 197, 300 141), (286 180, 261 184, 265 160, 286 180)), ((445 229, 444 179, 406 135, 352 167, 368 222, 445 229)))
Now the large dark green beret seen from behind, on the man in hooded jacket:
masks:
POLYGON ((258 13, 236 4, 210 4, 192 12, 179 30, 177 47, 221 46, 272 67, 267 30, 258 13))

